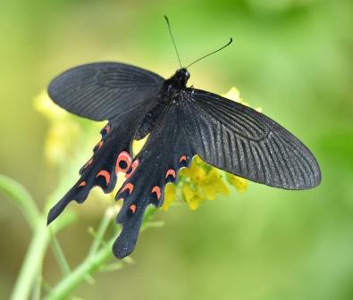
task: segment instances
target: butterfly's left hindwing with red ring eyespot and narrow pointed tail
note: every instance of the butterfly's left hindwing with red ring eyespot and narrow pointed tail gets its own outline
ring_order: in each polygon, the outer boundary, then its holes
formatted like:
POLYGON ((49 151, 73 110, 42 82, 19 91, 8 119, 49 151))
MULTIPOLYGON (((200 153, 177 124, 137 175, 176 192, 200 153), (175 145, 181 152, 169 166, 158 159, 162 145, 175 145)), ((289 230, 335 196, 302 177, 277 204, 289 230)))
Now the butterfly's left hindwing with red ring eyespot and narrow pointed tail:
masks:
POLYGON ((92 187, 101 187, 105 193, 113 190, 116 174, 130 169, 131 143, 148 107, 149 104, 145 103, 108 122, 101 131, 102 139, 94 147, 92 158, 80 170, 80 179, 50 210, 48 223, 54 221, 72 200, 84 202, 92 187))

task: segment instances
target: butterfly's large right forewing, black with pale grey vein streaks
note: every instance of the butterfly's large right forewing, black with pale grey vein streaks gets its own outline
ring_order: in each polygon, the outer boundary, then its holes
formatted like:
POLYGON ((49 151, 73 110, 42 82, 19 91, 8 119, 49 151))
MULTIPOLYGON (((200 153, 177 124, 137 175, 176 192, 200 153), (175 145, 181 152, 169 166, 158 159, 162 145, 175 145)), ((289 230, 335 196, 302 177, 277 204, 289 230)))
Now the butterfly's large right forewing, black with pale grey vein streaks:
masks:
POLYGON ((285 189, 317 186, 321 172, 314 155, 287 129, 245 105, 222 96, 188 88, 187 136, 209 164, 285 189))

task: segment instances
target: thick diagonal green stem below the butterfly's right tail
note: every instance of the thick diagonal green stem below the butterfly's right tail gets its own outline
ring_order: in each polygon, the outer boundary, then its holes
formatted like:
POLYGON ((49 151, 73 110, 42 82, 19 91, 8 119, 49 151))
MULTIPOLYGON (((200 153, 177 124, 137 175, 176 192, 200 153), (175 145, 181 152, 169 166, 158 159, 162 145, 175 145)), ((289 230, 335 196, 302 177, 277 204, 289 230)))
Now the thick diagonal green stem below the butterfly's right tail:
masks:
POLYGON ((46 299, 66 299, 75 287, 78 287, 86 280, 88 274, 99 271, 102 265, 105 265, 105 262, 112 257, 114 240, 115 237, 98 250, 96 254, 88 256, 75 270, 71 271, 69 275, 53 287, 49 295, 46 296, 46 299))

